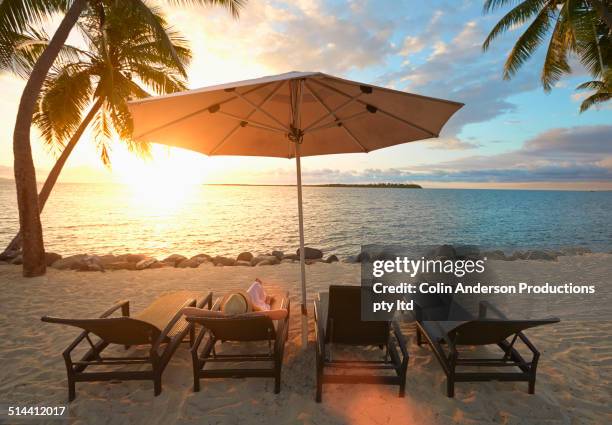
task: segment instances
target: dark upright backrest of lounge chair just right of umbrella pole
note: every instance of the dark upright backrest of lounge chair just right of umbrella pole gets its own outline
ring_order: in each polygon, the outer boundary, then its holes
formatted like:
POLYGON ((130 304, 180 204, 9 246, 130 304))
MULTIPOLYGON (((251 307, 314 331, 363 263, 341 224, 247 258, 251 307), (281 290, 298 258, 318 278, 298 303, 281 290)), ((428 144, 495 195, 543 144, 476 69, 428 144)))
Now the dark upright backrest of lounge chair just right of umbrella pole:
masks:
POLYGON ((331 285, 325 339, 348 345, 385 345, 390 322, 361 320, 361 287, 331 285))

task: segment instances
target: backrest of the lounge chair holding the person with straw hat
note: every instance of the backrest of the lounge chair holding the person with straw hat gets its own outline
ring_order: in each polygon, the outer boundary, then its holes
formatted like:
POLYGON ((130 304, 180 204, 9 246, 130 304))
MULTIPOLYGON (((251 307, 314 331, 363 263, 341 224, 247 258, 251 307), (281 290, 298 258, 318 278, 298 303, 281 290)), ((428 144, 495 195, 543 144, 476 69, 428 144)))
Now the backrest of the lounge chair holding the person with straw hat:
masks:
POLYGON ((199 323, 221 341, 267 341, 276 339, 274 322, 263 315, 247 317, 187 317, 199 323))

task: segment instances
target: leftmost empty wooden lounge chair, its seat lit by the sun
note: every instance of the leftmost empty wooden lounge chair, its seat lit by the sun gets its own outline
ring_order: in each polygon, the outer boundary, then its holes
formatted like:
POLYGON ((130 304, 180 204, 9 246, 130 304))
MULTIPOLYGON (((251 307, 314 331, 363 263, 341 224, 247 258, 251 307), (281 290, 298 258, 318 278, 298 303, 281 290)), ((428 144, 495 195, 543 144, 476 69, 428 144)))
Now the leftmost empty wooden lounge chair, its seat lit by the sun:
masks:
POLYGON ((68 399, 74 400, 77 382, 110 381, 110 380, 152 380, 154 394, 161 393, 161 377, 170 358, 178 345, 189 333, 190 344, 193 342, 195 331, 182 315, 183 307, 195 306, 202 308, 212 304, 212 294, 200 301, 193 293, 187 291, 174 292, 159 297, 146 309, 135 316, 130 316, 129 301, 119 301, 106 310, 96 319, 62 319, 43 316, 42 321, 75 326, 83 332, 64 350, 63 356, 68 372, 68 399), (121 316, 110 317, 114 312, 121 310, 121 316), (99 337, 93 342, 91 334, 99 337), (78 361, 73 361, 72 351, 82 342, 89 344, 87 353, 78 361), (147 356, 102 356, 102 351, 109 344, 148 345, 150 350, 147 356), (141 365, 149 364, 147 370, 141 370, 141 365), (109 367, 136 365, 132 370, 86 371, 92 367, 109 367))

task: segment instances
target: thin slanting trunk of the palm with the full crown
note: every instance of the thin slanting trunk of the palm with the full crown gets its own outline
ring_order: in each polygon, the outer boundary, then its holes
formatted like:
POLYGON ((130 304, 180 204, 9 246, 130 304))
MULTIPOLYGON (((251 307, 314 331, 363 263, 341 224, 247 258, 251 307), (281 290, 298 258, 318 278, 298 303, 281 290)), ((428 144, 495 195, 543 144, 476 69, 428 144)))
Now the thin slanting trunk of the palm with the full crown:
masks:
MULTIPOLYGON (((87 128, 91 120, 93 120, 96 113, 100 110, 102 103, 103 102, 100 99, 98 99, 96 103, 94 103, 94 105, 91 107, 87 115, 85 115, 85 118, 83 118, 83 121, 81 121, 81 124, 79 124, 79 127, 77 128, 77 130, 74 132, 74 134, 70 138, 70 141, 68 142, 68 144, 62 151, 62 154, 59 156, 59 158, 55 162, 55 165, 49 172, 49 175, 47 176, 47 179, 45 180, 45 184, 43 184, 43 187, 40 190, 40 193, 38 194, 38 212, 39 213, 42 214, 43 208, 45 207, 45 204, 47 203, 47 200, 49 199, 49 195, 51 195, 51 191, 53 190, 55 183, 57 183, 57 179, 59 178, 59 175, 62 172, 62 169, 64 168, 64 165, 66 164, 66 161, 68 160, 68 157, 72 153, 72 150, 74 149, 76 144, 81 139, 83 132, 85 131, 85 129, 87 128)), ((10 258, 13 256, 14 253, 17 253, 21 249, 21 241, 22 239, 21 239, 21 230, 20 230, 19 232, 17 232, 15 237, 8 244, 4 252, 0 254, 0 258, 2 257, 10 258)))

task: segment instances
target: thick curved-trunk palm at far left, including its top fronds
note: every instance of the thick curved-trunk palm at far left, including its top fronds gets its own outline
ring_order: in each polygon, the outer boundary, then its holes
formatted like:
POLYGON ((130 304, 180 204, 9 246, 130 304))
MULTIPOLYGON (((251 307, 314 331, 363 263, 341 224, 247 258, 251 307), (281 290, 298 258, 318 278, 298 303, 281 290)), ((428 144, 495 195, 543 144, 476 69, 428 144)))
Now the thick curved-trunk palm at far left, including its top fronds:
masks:
MULTIPOLYGON (((43 87, 45 77, 59 55, 68 34, 76 25, 79 16, 88 5, 121 1, 133 8, 142 10, 147 16, 149 10, 145 0, 3 0, 0 3, 0 44, 8 44, 11 34, 21 34, 32 23, 41 22, 53 13, 64 13, 49 44, 32 68, 30 78, 21 95, 15 129, 13 132, 13 153, 19 225, 23 237, 23 275, 39 276, 45 273, 45 248, 43 243, 36 171, 30 146, 30 127, 36 108, 36 100, 43 87)), ((199 3, 219 5, 228 8, 237 16, 245 0, 170 0, 174 4, 199 3)), ((160 31, 157 21, 148 15, 147 23, 151 30, 160 31)), ((2 55, 0 54, 0 58, 2 55)))

